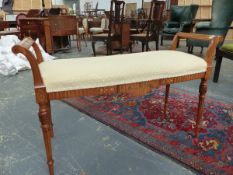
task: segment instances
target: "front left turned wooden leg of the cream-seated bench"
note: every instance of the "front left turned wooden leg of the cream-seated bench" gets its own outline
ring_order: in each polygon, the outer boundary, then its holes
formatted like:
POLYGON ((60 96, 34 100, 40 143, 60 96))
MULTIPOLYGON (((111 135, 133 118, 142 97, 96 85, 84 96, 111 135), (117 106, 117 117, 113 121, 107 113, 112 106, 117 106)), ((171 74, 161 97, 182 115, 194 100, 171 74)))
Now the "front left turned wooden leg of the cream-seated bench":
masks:
POLYGON ((44 144, 47 156, 47 164, 49 174, 54 175, 54 166, 52 158, 52 143, 51 143, 51 122, 49 117, 49 103, 39 104, 39 119, 41 122, 42 133, 44 137, 44 144))

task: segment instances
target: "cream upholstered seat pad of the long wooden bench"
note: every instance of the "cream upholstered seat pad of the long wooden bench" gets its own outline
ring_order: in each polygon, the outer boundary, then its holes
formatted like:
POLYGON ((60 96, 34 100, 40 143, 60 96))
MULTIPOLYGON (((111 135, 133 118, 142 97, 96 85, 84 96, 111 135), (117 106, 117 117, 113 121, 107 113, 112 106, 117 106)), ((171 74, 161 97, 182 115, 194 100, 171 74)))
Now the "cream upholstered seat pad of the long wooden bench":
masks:
POLYGON ((179 51, 153 51, 53 60, 42 62, 39 68, 47 92, 58 92, 202 73, 207 63, 179 51))

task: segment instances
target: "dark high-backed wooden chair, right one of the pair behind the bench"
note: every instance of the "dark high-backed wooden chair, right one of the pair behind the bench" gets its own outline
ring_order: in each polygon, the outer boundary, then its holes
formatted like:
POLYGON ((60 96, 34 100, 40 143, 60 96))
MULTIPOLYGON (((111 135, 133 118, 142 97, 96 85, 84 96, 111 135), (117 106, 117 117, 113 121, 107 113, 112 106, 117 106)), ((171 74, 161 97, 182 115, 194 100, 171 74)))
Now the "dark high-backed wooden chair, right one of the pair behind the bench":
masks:
MULTIPOLYGON (((150 41, 155 41, 156 50, 159 50, 159 32, 162 27, 164 7, 164 1, 152 0, 145 31, 130 36, 132 41, 140 41, 142 43, 142 52, 144 52, 145 45, 146 51, 149 50, 150 41)), ((130 43, 130 51, 132 52, 132 42, 130 43)))

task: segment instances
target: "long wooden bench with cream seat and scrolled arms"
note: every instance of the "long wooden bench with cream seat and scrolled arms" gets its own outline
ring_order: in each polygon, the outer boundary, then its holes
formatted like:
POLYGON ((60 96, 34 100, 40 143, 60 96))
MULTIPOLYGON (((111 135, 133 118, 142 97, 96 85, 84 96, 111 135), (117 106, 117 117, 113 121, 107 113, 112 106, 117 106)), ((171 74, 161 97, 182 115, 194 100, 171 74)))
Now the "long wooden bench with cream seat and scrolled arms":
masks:
POLYGON ((58 59, 47 62, 44 62, 38 45, 31 38, 25 38, 15 45, 12 51, 15 54, 24 54, 32 68, 49 174, 54 175, 51 100, 111 93, 143 95, 160 85, 166 85, 164 103, 164 114, 166 114, 170 84, 201 79, 195 129, 195 136, 198 137, 207 81, 211 75, 212 60, 220 40, 220 37, 178 33, 174 37, 171 51, 58 59), (210 41, 204 59, 175 51, 178 40, 182 38, 210 41), (29 50, 31 46, 35 54, 29 50), (174 66, 174 63, 177 65, 174 66))

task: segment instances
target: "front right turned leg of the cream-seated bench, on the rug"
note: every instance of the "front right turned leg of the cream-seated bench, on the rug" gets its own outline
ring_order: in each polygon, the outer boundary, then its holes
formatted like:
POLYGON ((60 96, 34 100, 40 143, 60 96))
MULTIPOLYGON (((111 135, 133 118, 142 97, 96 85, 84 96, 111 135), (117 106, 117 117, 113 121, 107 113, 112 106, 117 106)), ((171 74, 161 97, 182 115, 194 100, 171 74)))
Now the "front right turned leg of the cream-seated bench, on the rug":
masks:
POLYGON ((195 130, 196 138, 199 135, 199 125, 201 123, 202 115, 204 111, 204 100, 205 100, 206 92, 207 92, 207 80, 203 78, 201 79, 201 84, 199 87, 199 103, 198 103, 198 111, 197 111, 197 119, 196 119, 196 130, 195 130))

